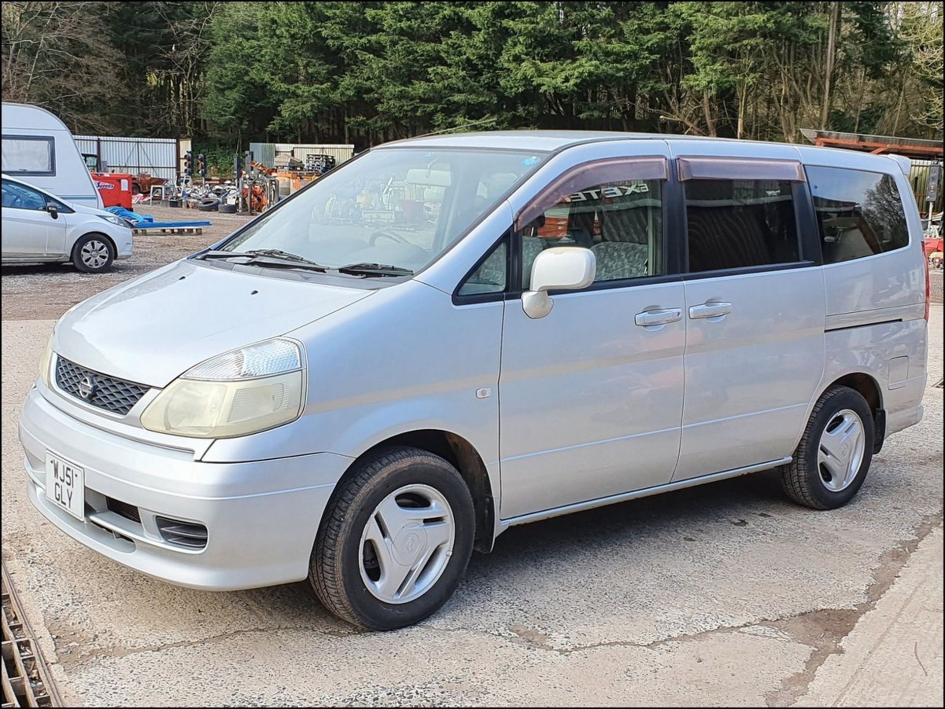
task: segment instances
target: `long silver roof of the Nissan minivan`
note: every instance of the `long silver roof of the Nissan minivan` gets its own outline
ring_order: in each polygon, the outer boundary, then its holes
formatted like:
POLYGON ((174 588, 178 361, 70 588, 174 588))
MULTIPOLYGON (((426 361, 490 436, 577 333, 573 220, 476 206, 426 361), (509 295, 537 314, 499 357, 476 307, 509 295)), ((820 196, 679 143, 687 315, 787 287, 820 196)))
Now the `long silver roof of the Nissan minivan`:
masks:
POLYGON ((881 172, 905 171, 903 164, 908 159, 902 156, 870 155, 840 148, 818 147, 799 143, 774 143, 769 141, 746 141, 734 138, 715 138, 698 135, 679 135, 675 133, 633 133, 604 130, 484 130, 469 133, 450 133, 445 135, 425 135, 407 138, 393 143, 378 145, 386 147, 429 147, 449 148, 484 148, 493 150, 521 150, 534 152, 555 152, 582 143, 607 143, 616 141, 660 141, 666 143, 674 152, 684 152, 685 143, 716 143, 728 145, 732 155, 767 157, 775 148, 783 156, 783 147, 797 151, 798 160, 808 163, 816 156, 816 163, 831 163, 848 167, 879 170, 881 172))

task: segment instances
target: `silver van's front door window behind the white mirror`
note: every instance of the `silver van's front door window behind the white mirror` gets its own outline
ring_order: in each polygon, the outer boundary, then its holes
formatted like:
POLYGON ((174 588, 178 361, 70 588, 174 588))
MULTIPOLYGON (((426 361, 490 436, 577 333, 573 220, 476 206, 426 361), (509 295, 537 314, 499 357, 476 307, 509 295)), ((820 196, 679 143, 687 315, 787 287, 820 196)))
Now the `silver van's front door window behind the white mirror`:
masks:
MULTIPOLYGON (((612 172, 612 170, 611 170, 612 172)), ((623 179, 594 180, 593 168, 576 192, 562 197, 522 229, 522 287, 545 248, 590 248, 595 282, 662 276, 662 180, 637 179, 628 162, 623 179)), ((602 176, 599 176, 602 177, 602 176)))

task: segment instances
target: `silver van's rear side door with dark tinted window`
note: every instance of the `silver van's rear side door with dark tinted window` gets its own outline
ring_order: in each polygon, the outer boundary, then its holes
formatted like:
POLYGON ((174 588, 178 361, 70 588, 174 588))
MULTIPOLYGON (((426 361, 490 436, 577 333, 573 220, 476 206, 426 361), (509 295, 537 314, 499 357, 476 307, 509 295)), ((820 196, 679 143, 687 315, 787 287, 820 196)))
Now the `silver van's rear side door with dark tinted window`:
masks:
POLYGON ((688 323, 674 481, 791 455, 823 373, 824 282, 800 238, 803 172, 741 162, 679 168, 688 323))

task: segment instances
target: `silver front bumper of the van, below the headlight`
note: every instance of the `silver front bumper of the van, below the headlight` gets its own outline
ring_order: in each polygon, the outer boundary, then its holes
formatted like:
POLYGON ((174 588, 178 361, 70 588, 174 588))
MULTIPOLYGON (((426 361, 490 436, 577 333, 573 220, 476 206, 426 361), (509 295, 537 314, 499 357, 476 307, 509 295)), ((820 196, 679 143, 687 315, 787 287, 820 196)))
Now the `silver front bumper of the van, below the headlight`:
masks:
POLYGON ((62 532, 163 581, 221 591, 304 579, 322 512, 351 463, 333 453, 201 463, 192 451, 133 441, 78 421, 35 387, 20 416, 20 441, 28 497, 62 532), (84 468, 83 521, 47 502, 46 451, 84 468), (108 498, 138 508, 140 521, 112 511, 108 498), (203 525, 206 546, 169 542, 155 515, 203 525))

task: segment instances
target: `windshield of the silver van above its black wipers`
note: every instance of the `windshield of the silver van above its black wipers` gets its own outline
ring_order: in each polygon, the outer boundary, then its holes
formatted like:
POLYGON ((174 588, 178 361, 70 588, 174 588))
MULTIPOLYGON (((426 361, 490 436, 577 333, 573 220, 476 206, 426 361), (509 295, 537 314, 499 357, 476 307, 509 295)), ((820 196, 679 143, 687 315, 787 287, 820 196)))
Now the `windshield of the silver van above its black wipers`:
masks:
MULTIPOLYGON (((381 148, 322 177, 219 250, 278 249, 351 275, 432 262, 543 155, 381 148)), ((271 251, 270 251, 271 252, 271 251)))

